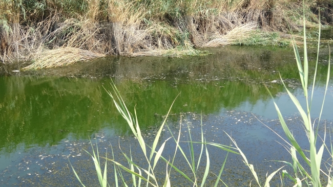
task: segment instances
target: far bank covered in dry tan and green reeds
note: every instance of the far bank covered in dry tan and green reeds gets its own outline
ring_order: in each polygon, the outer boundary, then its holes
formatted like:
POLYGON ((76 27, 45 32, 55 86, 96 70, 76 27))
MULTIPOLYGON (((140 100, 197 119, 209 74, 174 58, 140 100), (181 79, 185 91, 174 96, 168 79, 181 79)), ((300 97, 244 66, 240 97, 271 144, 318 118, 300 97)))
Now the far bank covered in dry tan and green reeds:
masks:
MULTIPOLYGON (((332 24, 331 0, 305 1, 306 26, 332 24)), ((288 45, 278 32, 300 30, 300 0, 4 0, 3 62, 27 68, 71 64, 104 55, 200 55, 222 45, 288 45), (53 64, 46 59, 53 58, 53 64), (63 58, 60 58, 63 57, 63 58)))

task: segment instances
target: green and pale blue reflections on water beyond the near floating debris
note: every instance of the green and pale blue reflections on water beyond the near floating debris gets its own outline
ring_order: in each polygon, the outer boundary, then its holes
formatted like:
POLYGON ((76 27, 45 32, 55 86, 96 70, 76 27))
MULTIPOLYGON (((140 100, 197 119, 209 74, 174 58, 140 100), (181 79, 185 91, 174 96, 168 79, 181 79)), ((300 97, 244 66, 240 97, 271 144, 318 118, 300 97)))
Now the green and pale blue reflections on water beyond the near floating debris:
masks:
MULTIPOLYGON (((2 67, 0 171, 8 167, 5 161, 9 157, 30 147, 60 145, 69 136, 87 139, 103 128, 110 136, 128 134, 130 129, 105 91, 111 89, 110 77, 133 113, 136 106, 142 129, 159 125, 179 93, 172 114, 223 116, 236 110, 276 119, 266 84, 283 115, 296 112, 279 81, 280 72, 290 90, 302 96, 290 49, 231 46, 212 52, 215 55, 203 57, 105 58, 37 72, 13 73, 15 66, 2 67)), ((313 106, 318 110, 327 74, 326 58, 321 56, 316 80, 313 106)), ((314 67, 313 60, 310 65, 314 67)), ((329 91, 331 96, 331 85, 329 91)), ((325 111, 332 110, 330 96, 325 111)), ((315 110, 313 115, 318 113, 315 110)), ((330 114, 324 113, 324 118, 332 120, 330 114)), ((171 120, 177 119, 171 115, 171 120)))

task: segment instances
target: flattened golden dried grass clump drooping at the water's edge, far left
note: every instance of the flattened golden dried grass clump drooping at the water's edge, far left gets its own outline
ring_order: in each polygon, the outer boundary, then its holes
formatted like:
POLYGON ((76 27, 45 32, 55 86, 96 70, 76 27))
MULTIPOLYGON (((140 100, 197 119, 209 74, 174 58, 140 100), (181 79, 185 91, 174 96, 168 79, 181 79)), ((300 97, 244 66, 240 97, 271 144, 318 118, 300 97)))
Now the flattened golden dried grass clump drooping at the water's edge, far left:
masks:
POLYGON ((78 48, 58 48, 34 54, 34 62, 24 69, 40 69, 73 64, 104 56, 103 54, 78 48))

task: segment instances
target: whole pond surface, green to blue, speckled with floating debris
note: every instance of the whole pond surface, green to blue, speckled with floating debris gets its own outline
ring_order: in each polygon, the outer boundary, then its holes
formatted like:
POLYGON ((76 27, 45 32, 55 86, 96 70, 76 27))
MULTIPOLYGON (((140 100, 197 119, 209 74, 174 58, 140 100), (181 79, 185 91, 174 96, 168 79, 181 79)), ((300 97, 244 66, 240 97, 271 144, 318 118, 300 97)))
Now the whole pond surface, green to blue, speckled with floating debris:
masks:
MULTIPOLYGON (((96 185, 93 162, 82 150, 91 151, 89 138, 97 139, 102 155, 104 148, 110 149, 112 144, 120 162, 124 158, 118 144, 127 153, 131 146, 132 154, 140 155, 130 128, 105 90, 112 89, 111 79, 132 113, 136 107, 148 142, 180 94, 168 124, 176 134, 183 126, 183 141, 189 137, 188 126, 192 138, 199 141, 202 113, 206 141, 227 145, 230 139, 224 131, 232 134, 249 161, 257 166, 261 178, 267 171, 283 166, 280 162, 267 162, 290 161, 290 156, 276 141, 285 143, 265 126, 284 137, 273 100, 264 85, 273 93, 293 133, 306 146, 301 119, 279 78, 280 72, 289 90, 304 103, 293 50, 227 46, 210 51, 212 55, 183 58, 108 57, 29 72, 15 71, 22 64, 0 67, 0 185, 79 186, 68 158, 84 183, 96 185)), ((316 54, 310 51, 309 58, 309 71, 313 74, 316 54)), ((323 46, 311 111, 314 117, 321 108, 327 67, 328 50, 323 46)), ((331 81, 322 115, 327 126, 333 121, 332 86, 331 81)), ((322 134, 324 126, 319 131, 322 134)), ((168 137, 170 132, 166 128, 161 143, 168 137)), ((174 150, 170 142, 171 148, 165 155, 174 150)), ((197 148, 200 151, 198 145, 197 148)), ((212 147, 209 151, 211 163, 216 163, 212 172, 218 174, 225 152, 212 147)), ((188 170, 181 165, 181 156, 177 158, 180 167, 188 170)), ((140 160, 140 156, 135 159, 140 160)), ((160 165, 165 167, 163 162, 160 165)), ((202 165, 204 170, 205 163, 202 165)), ((163 172, 164 169, 162 177, 163 172)), ((111 173, 109 179, 113 181, 111 173)), ((209 176, 213 180, 214 177, 209 176)), ((241 157, 229 155, 222 179, 231 186, 240 186, 248 185, 253 177, 241 157)), ((173 182, 188 185, 184 179, 173 182)))

